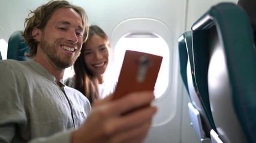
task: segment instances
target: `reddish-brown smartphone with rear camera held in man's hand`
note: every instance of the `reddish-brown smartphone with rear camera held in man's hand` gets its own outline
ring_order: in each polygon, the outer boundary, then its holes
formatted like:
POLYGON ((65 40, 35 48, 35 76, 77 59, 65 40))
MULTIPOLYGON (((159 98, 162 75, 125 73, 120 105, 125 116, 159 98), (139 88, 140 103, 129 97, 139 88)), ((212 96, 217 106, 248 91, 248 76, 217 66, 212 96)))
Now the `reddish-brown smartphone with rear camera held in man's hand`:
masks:
POLYGON ((159 55, 127 50, 113 98, 135 91, 153 91, 161 63, 159 55))

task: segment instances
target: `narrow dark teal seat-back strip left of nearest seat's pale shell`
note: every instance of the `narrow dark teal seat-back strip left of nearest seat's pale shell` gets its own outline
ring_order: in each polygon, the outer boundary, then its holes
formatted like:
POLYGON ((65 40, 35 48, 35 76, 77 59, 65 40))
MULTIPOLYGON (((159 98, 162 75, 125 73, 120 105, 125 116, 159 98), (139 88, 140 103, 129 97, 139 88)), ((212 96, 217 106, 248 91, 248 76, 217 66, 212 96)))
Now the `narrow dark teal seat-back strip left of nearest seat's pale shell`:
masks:
POLYGON ((194 73, 194 85, 195 92, 197 92, 197 98, 201 102, 202 109, 204 110, 207 120, 213 130, 216 131, 216 126, 213 121, 212 111, 210 108, 209 93, 207 86, 207 64, 209 59, 205 51, 205 31, 192 30, 192 59, 193 59, 193 73, 194 73))

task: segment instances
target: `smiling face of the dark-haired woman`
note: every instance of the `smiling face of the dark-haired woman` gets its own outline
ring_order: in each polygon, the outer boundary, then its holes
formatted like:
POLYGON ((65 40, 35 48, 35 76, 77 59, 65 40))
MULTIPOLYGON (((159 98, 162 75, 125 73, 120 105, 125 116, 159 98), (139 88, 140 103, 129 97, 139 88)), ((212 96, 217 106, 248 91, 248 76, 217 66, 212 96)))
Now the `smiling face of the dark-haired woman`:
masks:
POLYGON ((109 64, 109 41, 98 35, 92 36, 85 43, 83 55, 88 69, 95 76, 102 75, 109 64))

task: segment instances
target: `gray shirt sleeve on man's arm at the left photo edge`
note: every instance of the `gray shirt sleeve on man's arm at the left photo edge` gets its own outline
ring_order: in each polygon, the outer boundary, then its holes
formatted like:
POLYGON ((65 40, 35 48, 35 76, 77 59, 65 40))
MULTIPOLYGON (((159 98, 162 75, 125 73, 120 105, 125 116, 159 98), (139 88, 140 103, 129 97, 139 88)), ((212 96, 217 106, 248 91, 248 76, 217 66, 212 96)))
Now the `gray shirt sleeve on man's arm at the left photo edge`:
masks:
POLYGON ((26 123, 26 115, 13 69, 0 63, 0 73, 0 142, 11 142, 16 126, 26 123))

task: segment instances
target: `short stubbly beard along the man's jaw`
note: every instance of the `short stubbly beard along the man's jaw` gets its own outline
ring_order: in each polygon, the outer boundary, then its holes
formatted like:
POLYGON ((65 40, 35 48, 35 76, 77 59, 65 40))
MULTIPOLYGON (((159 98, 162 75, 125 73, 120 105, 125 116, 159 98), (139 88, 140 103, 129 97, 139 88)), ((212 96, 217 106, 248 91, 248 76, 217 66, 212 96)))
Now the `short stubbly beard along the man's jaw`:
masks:
POLYGON ((67 67, 72 66, 79 56, 79 54, 76 54, 75 57, 70 59, 69 57, 58 55, 57 49, 54 45, 50 45, 44 40, 42 40, 40 44, 44 54, 46 54, 52 64, 59 69, 66 69, 67 67))

